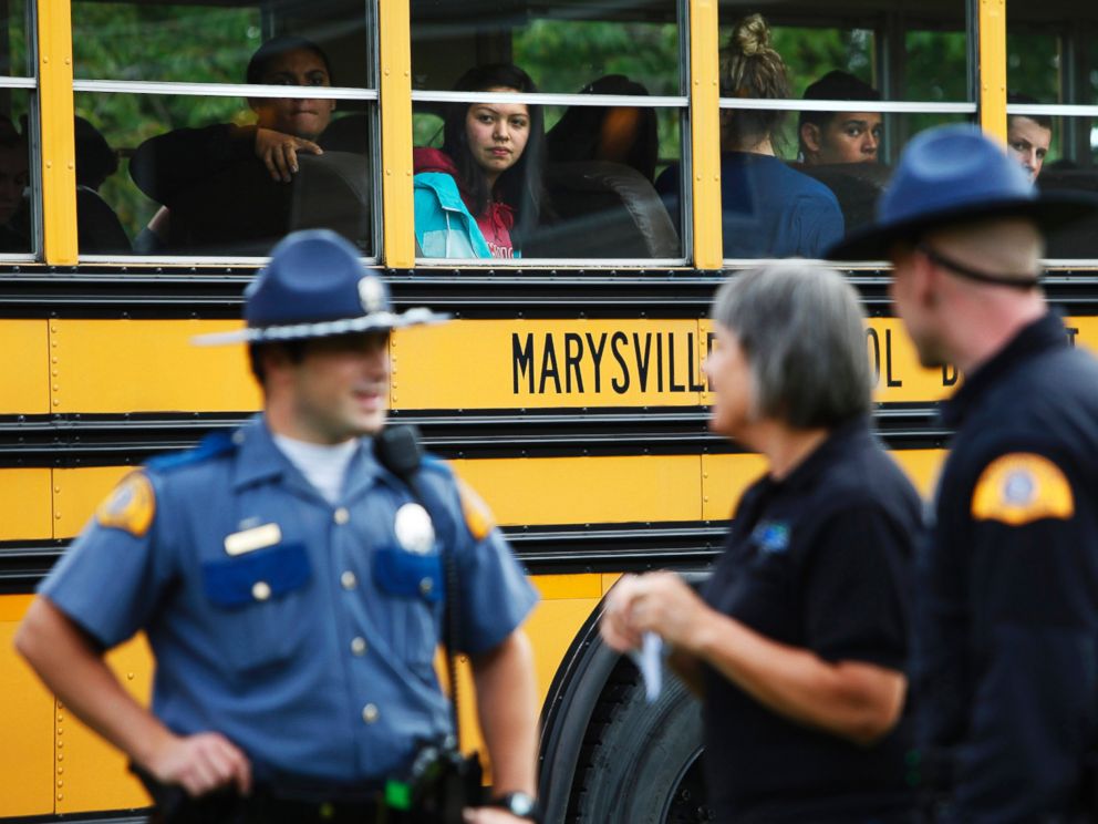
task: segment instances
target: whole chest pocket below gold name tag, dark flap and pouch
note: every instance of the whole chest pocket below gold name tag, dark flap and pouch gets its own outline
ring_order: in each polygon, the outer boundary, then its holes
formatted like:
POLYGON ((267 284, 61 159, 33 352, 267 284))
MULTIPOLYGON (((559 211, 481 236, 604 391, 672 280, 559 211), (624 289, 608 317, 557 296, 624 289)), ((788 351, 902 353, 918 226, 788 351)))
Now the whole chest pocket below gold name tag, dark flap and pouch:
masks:
POLYGON ((303 544, 286 544, 201 566, 203 591, 218 610, 227 662, 251 670, 283 662, 308 637, 312 567, 303 544))

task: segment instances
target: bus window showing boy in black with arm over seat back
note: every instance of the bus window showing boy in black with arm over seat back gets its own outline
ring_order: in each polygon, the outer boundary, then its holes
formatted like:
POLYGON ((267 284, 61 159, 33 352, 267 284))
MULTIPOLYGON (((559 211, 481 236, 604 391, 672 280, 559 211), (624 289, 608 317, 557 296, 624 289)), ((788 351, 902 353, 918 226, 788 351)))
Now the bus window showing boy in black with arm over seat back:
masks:
POLYGON ((325 226, 371 256, 370 20, 338 0, 74 3, 76 114, 123 161, 77 192, 81 255, 255 257, 325 226))

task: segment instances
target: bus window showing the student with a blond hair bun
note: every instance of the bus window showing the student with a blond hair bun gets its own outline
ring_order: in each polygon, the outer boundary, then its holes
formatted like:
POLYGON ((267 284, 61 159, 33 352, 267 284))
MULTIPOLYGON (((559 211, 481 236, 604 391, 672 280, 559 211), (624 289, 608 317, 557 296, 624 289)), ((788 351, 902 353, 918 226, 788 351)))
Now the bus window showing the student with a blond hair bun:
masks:
MULTIPOLYGON (((821 257, 845 231, 872 219, 907 135, 973 117, 965 8, 954 7, 952 16, 936 9, 933 31, 924 31, 924 22, 898 32, 883 14, 867 14, 857 28, 836 28, 806 25, 810 16, 791 3, 775 4, 773 13, 768 7, 767 17, 742 4, 722 6, 726 260, 821 257), (918 64, 931 53, 952 54, 957 42, 957 89, 930 89, 907 82, 903 72, 880 71, 882 60, 918 64)), ((670 184, 657 182, 657 188, 670 190, 672 204, 681 200, 670 184)))

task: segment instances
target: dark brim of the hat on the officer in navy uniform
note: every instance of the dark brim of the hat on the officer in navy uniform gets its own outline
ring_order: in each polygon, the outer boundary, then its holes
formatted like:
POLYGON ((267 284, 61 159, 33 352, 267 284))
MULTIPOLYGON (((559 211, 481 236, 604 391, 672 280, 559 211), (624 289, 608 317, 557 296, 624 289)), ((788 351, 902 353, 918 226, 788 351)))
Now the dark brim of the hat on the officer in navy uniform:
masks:
POLYGON ((1098 214, 1098 198, 1078 193, 1050 193, 1036 199, 1011 198, 971 204, 953 209, 942 209, 890 224, 876 224, 851 231, 832 246, 827 260, 888 260, 889 251, 898 240, 918 237, 929 229, 945 225, 963 225, 996 217, 1024 217, 1033 220, 1042 231, 1066 226, 1098 214))

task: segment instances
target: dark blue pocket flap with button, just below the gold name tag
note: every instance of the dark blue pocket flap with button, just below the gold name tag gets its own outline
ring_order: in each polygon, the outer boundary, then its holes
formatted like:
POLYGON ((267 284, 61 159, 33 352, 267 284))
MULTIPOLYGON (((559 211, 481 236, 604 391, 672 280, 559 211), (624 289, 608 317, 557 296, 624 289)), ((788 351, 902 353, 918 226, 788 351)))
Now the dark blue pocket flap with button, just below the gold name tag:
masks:
POLYGON ((224 560, 203 563, 206 597, 219 607, 279 598, 312 578, 303 544, 286 544, 224 560))

